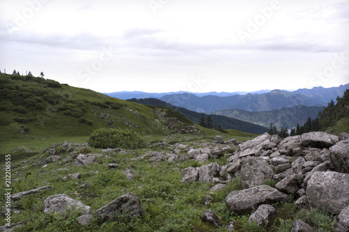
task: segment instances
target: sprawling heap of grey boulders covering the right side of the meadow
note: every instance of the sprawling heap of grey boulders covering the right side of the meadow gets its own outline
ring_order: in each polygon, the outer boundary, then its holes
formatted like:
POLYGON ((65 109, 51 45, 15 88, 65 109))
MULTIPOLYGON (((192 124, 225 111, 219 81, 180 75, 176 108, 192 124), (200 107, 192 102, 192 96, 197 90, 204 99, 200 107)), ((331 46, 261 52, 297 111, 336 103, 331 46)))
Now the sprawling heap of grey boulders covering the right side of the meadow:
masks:
MULTIPOLYGON (((320 208, 339 215, 336 227, 348 231, 348 136, 309 132, 281 139, 278 135, 265 133, 239 144, 225 166, 212 163, 184 169, 181 182, 216 182, 222 171, 228 171, 228 181, 233 176, 240 176, 244 190, 230 192, 225 203, 239 215, 253 213, 251 222, 267 226, 270 221, 267 216, 272 216, 273 212, 269 205, 288 201, 288 195, 292 194, 299 206, 320 208), (263 185, 273 181, 275 187, 263 185), (260 214, 259 211, 268 213, 260 214)), ((216 138, 216 143, 224 142, 216 138)), ((188 156, 196 159, 203 153, 209 152, 207 149, 189 150, 188 156)), ((309 227, 304 224, 301 220, 296 221, 292 230, 299 231, 299 226, 309 227)))

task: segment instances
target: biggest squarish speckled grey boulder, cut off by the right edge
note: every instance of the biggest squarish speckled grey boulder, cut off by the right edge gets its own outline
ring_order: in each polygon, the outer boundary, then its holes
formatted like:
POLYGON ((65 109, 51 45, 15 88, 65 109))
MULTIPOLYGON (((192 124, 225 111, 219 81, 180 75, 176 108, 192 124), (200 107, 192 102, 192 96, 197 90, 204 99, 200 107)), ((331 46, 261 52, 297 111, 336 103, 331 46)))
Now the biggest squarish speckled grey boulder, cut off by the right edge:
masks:
POLYGON ((349 206, 349 173, 317 171, 311 176, 306 197, 312 207, 338 215, 349 206))

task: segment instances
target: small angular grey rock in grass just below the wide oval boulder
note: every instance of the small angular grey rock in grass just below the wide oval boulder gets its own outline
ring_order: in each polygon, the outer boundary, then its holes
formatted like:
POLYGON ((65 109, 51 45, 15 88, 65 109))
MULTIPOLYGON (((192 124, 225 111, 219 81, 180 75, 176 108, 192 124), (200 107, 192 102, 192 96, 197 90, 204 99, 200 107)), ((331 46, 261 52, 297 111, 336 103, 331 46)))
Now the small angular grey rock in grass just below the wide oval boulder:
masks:
POLYGON ((267 227, 271 226, 276 216, 276 209, 270 205, 261 205, 258 209, 251 214, 248 222, 256 222, 258 226, 267 227))

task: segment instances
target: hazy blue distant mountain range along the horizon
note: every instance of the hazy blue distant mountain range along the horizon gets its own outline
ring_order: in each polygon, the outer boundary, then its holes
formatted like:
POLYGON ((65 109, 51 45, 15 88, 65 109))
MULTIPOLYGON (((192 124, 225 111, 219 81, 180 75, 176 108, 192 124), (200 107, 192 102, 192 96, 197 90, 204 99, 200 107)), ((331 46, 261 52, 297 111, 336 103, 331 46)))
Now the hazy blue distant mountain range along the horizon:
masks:
POLYGON ((298 89, 297 91, 255 91, 253 93, 188 93, 185 91, 175 93, 144 93, 144 92, 117 92, 106 93, 114 98, 157 98, 177 107, 184 107, 192 111, 211 113, 223 109, 243 109, 246 111, 272 111, 297 105, 327 106, 328 102, 336 97, 343 96, 349 84, 339 87, 311 89, 298 89))

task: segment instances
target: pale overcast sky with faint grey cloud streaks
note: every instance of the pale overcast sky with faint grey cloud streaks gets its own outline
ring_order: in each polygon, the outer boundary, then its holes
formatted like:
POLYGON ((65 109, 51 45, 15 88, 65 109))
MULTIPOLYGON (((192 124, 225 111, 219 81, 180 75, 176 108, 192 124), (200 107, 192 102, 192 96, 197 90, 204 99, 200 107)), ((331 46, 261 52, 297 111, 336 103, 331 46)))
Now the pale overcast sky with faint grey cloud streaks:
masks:
POLYGON ((102 93, 349 83, 348 0, 1 0, 0 70, 102 93))

